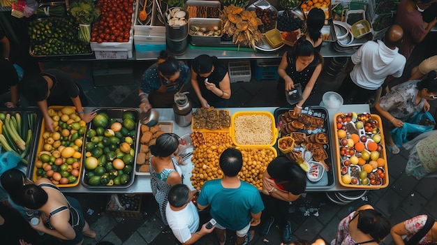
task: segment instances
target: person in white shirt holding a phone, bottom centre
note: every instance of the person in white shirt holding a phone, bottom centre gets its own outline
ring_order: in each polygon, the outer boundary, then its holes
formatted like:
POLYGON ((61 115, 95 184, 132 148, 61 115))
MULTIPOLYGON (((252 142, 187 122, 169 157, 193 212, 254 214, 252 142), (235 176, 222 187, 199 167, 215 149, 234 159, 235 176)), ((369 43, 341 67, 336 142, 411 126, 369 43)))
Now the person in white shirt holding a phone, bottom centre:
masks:
POLYGON ((200 237, 211 233, 215 228, 213 226, 211 229, 207 229, 205 223, 197 231, 200 218, 197 207, 191 202, 194 193, 195 191, 190 191, 190 188, 184 184, 172 186, 168 191, 165 217, 173 235, 183 245, 195 243, 200 237))

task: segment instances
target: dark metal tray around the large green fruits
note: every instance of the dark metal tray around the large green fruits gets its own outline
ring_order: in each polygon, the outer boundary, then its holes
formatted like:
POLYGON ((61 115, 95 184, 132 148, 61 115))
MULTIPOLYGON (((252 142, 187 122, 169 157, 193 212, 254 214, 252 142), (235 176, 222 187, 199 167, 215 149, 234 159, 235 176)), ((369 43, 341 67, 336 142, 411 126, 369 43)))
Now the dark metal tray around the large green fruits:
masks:
MULTIPOLYGON (((135 135, 135 138, 133 138, 133 144, 134 145, 131 146, 131 148, 137 149, 137 145, 138 145, 138 142, 139 142, 139 138, 138 138, 138 124, 140 124, 140 121, 139 121, 140 112, 138 112, 138 110, 136 110, 135 108, 99 107, 96 110, 94 110, 94 112, 96 112, 97 114, 101 113, 101 112, 105 112, 105 113, 108 114, 108 116, 110 118, 116 118, 116 119, 121 119, 121 117, 123 116, 124 112, 133 112, 133 114, 135 114, 135 117, 136 117, 136 119, 134 121, 135 121, 135 124, 136 124, 135 128, 137 128, 137 133, 135 135)), ((92 121, 88 124, 87 130, 89 130, 91 128, 93 128, 93 122, 92 121)), ((87 144, 87 142, 88 142, 88 140, 85 137, 84 145, 87 144)), ((85 153, 86 152, 87 152, 87 150, 84 147, 84 150, 82 151, 82 158, 83 158, 82 162, 83 163, 85 162, 85 158, 86 158, 85 153)), ((82 170, 82 178, 80 179, 80 182, 81 182, 82 186, 85 186, 87 188, 127 188, 127 187, 131 186, 133 184, 133 181, 135 180, 136 163, 137 163, 137 154, 135 154, 135 156, 133 157, 133 163, 132 163, 132 165, 133 165, 132 167, 133 168, 132 168, 132 172, 131 172, 131 179, 129 180, 128 184, 126 184, 126 185, 121 185, 120 184, 118 186, 117 185, 112 185, 112 186, 91 186, 91 185, 87 184, 86 181, 85 181, 85 179, 88 180, 86 175, 87 175, 87 172, 89 172, 89 170, 85 169, 85 165, 84 164, 82 164, 83 170, 82 170)))

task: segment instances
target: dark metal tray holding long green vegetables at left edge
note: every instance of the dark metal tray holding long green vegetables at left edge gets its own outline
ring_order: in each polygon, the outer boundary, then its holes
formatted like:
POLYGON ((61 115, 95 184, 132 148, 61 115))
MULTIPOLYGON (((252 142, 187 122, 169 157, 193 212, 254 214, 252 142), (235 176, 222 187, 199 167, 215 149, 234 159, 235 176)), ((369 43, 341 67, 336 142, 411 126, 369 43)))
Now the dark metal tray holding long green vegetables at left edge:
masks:
MULTIPOLYGON (((36 117, 34 120, 34 125, 32 126, 32 143, 29 148, 26 158, 28 165, 26 170, 26 176, 31 177, 34 171, 34 164, 35 164, 35 158, 36 158, 36 149, 38 147, 38 139, 40 137, 40 128, 41 128, 41 121, 43 120, 43 114, 41 114, 40 110, 36 107, 28 107, 28 108, 1 108, 0 112, 6 113, 15 113, 15 112, 26 112, 29 113, 35 113, 36 117)), ((26 139, 23 139, 26 141, 26 139)))

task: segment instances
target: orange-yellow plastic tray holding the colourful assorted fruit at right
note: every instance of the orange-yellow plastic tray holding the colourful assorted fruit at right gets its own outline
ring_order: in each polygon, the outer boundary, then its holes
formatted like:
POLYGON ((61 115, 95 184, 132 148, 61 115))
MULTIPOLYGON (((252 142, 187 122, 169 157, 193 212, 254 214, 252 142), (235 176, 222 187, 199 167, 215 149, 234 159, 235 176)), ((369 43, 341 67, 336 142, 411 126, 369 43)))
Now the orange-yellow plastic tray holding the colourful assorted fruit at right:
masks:
MULTIPOLYGON (((334 120, 334 125, 337 124, 336 118, 337 116, 340 116, 341 114, 344 113, 337 113, 335 114, 333 120, 334 120)), ((357 113, 360 114, 360 113, 357 113)), ((343 181, 341 181, 341 159, 340 159, 340 144, 339 144, 339 134, 338 134, 338 130, 335 129, 335 147, 336 147, 336 151, 337 151, 337 176, 338 176, 338 181, 342 186, 345 187, 352 187, 352 188, 366 188, 366 189, 379 189, 379 188, 385 188, 388 186, 389 183, 389 177, 388 177, 388 163, 387 163, 387 154, 385 152, 385 140, 384 140, 384 132, 383 132, 383 121, 381 121, 381 118, 377 115, 377 114, 371 114, 371 119, 378 121, 378 125, 379 125, 379 129, 380 129, 380 136, 381 136, 381 141, 380 144, 383 147, 383 149, 380 151, 380 156, 384 159, 385 161, 385 165, 384 165, 384 172, 385 172, 385 176, 383 178, 383 184, 381 184, 380 186, 372 186, 372 185, 359 185, 359 184, 344 184, 343 181)), ((335 127, 336 128, 336 127, 335 127)), ((334 150, 333 150, 334 151, 334 150)))

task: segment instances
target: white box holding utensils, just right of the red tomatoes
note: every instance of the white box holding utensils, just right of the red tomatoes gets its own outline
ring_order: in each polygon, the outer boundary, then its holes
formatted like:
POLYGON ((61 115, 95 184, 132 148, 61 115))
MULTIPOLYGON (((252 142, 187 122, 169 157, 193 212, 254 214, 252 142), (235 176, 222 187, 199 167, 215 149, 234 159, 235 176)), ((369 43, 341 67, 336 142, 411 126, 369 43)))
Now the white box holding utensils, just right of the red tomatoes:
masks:
MULTIPOLYGON (((137 0, 137 6, 141 6, 138 1, 143 0, 137 0)), ((151 0, 149 0, 151 1, 151 0)), ((161 1, 163 3, 163 1, 161 1)), ((161 7, 163 13, 165 13, 165 10, 167 10, 167 6, 165 8, 161 7)), ((158 8, 156 7, 156 1, 153 1, 153 7, 151 10, 151 22, 149 24, 141 24, 141 22, 138 20, 138 13, 139 10, 135 10, 135 20, 133 22, 133 31, 135 35, 142 35, 142 36, 164 36, 165 37, 165 26, 163 23, 161 23, 158 20, 158 8)))

